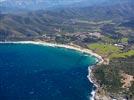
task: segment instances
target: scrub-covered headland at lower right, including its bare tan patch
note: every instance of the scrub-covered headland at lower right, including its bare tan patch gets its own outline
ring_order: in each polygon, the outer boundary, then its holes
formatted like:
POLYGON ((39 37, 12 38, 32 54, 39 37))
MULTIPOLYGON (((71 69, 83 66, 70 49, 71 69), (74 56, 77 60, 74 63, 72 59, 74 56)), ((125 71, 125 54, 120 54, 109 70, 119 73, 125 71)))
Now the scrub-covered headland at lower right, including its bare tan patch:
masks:
POLYGON ((110 61, 108 65, 98 65, 94 75, 100 89, 97 94, 109 95, 117 100, 134 99, 134 56, 118 58, 110 61), (102 91, 104 90, 104 91, 102 91))

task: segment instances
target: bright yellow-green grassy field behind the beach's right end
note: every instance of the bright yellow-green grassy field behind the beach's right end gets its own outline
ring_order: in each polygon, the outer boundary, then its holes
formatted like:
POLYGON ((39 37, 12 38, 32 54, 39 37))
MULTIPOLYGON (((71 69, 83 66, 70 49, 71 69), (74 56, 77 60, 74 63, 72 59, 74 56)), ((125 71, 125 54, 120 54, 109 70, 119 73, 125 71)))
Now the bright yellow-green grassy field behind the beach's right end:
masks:
POLYGON ((93 43, 88 45, 88 48, 109 59, 134 56, 134 50, 123 52, 121 48, 110 44, 93 43))

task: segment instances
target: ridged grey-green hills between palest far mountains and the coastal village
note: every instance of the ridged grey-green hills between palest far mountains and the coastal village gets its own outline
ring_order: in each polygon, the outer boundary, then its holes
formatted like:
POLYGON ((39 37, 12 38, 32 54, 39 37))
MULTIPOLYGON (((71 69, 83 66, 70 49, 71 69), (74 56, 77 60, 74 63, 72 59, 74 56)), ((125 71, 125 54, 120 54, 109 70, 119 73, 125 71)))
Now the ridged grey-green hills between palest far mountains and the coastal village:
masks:
POLYGON ((126 20, 131 21, 134 18, 133 9, 134 3, 128 2, 109 6, 98 5, 57 8, 47 11, 22 10, 22 12, 17 13, 1 13, 0 38, 2 40, 16 37, 35 38, 48 33, 65 34, 89 30, 91 32, 99 31, 106 35, 112 34, 111 36, 117 37, 121 29, 129 30, 127 33, 126 31, 121 33, 131 34, 133 28, 127 26, 130 26, 131 23, 127 24, 126 20))

